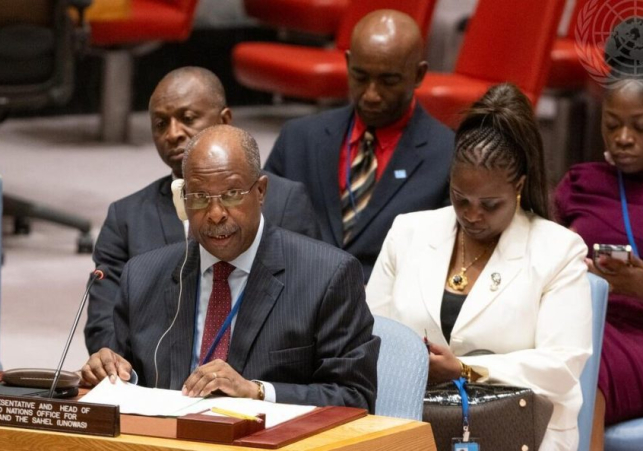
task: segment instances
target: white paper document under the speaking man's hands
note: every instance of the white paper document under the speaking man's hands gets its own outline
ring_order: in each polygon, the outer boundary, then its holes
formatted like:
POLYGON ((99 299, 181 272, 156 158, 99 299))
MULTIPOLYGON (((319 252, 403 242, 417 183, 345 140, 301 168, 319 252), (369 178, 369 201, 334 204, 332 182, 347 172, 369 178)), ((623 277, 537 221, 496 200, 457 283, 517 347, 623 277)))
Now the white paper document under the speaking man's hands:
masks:
MULTIPOLYGON (((188 413, 209 411, 212 407, 252 416, 264 413, 266 428, 292 420, 315 409, 315 406, 277 404, 227 396, 190 398, 183 396, 179 390, 140 387, 120 379, 112 384, 108 378, 103 379, 80 401, 117 405, 120 406, 121 413, 146 416, 179 417, 188 413)), ((206 412, 206 414, 217 415, 214 412, 206 412)))

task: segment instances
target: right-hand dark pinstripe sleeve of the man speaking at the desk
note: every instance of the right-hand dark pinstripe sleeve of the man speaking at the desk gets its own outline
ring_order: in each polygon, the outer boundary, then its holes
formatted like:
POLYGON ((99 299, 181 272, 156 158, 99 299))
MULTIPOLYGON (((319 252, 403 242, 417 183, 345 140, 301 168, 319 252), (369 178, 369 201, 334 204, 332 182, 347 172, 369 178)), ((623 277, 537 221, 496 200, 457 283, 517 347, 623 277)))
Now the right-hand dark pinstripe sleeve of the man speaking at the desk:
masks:
MULTIPOLYGON (((362 269, 343 260, 333 275, 317 317, 315 369, 308 384, 272 382, 277 402, 346 405, 375 411, 379 337, 365 301, 362 269)), ((271 382, 271 381, 268 381, 271 382)))

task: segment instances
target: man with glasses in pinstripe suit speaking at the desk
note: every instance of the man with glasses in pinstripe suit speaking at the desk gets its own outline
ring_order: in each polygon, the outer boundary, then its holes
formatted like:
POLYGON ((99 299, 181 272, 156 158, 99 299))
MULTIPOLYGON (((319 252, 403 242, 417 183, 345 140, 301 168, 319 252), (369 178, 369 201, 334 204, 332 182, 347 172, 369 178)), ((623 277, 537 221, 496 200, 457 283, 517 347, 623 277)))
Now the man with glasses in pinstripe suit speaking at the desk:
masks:
POLYGON ((379 338, 372 335, 359 262, 264 222, 268 180, 248 133, 208 128, 191 140, 183 165, 196 241, 127 263, 114 313, 116 347, 90 357, 85 382, 135 374, 139 384, 189 396, 219 391, 372 412, 379 338), (198 350, 211 268, 219 261, 235 268, 228 285, 238 313, 231 316, 227 359, 204 363, 198 350))

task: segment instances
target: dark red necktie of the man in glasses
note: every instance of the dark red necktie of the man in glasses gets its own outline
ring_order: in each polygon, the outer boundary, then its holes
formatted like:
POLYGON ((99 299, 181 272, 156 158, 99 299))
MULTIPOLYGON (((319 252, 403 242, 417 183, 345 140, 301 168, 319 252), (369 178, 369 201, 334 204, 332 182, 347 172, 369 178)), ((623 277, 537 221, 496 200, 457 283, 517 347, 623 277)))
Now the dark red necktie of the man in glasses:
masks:
MULTIPOLYGON (((199 360, 201 365, 204 362, 210 345, 216 338, 219 330, 223 326, 226 318, 230 314, 232 305, 232 296, 230 295, 230 285, 228 285, 228 277, 234 271, 234 266, 227 262, 218 262, 213 266, 213 280, 212 280, 212 293, 210 294, 210 301, 208 302, 208 312, 205 315, 205 323, 203 324, 203 338, 201 339, 201 355, 199 360)), ((228 347, 230 346, 230 327, 225 331, 221 337, 219 344, 212 353, 212 357, 208 360, 228 358, 228 347)))

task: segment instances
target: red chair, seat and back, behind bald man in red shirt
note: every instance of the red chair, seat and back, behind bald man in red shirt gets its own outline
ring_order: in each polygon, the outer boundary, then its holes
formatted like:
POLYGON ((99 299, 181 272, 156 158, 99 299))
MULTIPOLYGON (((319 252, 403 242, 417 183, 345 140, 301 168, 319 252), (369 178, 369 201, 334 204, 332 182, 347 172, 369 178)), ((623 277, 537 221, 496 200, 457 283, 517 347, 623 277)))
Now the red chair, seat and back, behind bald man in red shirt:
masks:
POLYGON ((413 17, 424 36, 436 0, 352 0, 342 18, 335 47, 322 49, 278 43, 237 45, 232 64, 237 81, 259 91, 303 99, 345 98, 348 77, 344 51, 355 24, 378 9, 396 9, 413 17))

